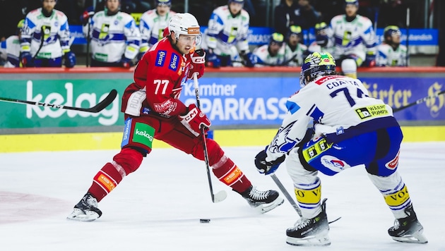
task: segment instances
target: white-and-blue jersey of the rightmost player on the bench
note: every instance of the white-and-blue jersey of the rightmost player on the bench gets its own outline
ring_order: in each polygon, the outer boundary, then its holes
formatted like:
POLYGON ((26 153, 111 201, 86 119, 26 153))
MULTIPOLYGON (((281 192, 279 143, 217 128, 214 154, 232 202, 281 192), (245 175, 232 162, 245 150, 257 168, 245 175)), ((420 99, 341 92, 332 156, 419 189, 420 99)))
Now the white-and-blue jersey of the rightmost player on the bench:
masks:
POLYGON ((376 66, 408 66, 405 45, 399 44, 393 49, 389 44, 377 47, 376 66))

